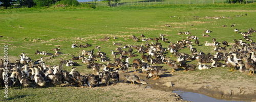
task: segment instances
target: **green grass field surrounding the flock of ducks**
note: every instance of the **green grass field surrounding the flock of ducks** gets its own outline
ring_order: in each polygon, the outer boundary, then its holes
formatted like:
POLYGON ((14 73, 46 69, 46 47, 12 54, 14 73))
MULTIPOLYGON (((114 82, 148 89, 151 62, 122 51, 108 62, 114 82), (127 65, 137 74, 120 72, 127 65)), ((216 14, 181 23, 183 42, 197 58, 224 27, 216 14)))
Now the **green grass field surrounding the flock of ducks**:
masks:
MULTIPOLYGON (((4 45, 8 44, 8 56, 12 58, 10 62, 19 59, 20 53, 25 53, 32 60, 37 60, 40 57, 45 57, 42 55, 35 55, 35 50, 39 51, 47 50, 48 53, 54 53, 50 51, 52 48, 56 48, 60 45, 60 52, 63 55, 53 58, 51 60, 46 60, 48 65, 56 65, 59 63, 59 58, 64 58, 64 60, 72 59, 72 55, 78 56, 81 54, 79 50, 92 50, 95 49, 96 45, 101 46, 101 52, 105 52, 107 57, 113 59, 111 56, 111 49, 115 49, 117 46, 113 45, 113 42, 122 43, 123 45, 140 45, 146 42, 134 42, 129 39, 132 35, 139 37, 144 34, 147 37, 154 38, 160 34, 167 35, 166 38, 169 39, 168 42, 177 42, 186 38, 186 35, 177 35, 179 31, 191 32, 191 35, 196 35, 199 37, 201 46, 196 47, 198 51, 202 50, 204 53, 213 52, 214 47, 205 46, 204 41, 211 41, 212 38, 216 38, 218 42, 226 40, 229 44, 233 43, 233 39, 243 39, 241 34, 236 34, 233 29, 237 28, 240 32, 247 32, 248 29, 255 29, 254 18, 256 16, 255 4, 248 5, 158 5, 151 7, 97 7, 96 9, 86 9, 78 7, 66 7, 66 8, 20 8, 11 10, 0 10, 0 58, 4 58, 4 45), (247 13, 247 16, 244 14, 247 13), (244 16, 236 17, 236 15, 243 14, 244 16), (170 16, 176 16, 170 18, 170 16), (199 16, 195 19, 194 16, 199 16), (209 17, 224 17, 218 20, 206 18, 209 17), (228 17, 230 16, 230 17, 228 17), (179 17, 179 18, 178 18, 179 17), (231 19, 232 18, 232 19, 231 19), (236 23, 236 27, 231 28, 230 25, 236 23), (172 27, 165 27, 165 24, 172 25, 172 27), (194 26, 191 26, 194 24, 194 26), (227 25, 227 27, 222 27, 222 25, 227 25), (211 37, 202 37, 202 33, 208 29, 213 31, 209 35, 211 37), (99 41, 98 39, 108 36, 113 38, 116 36, 118 39, 110 39, 109 41, 99 41), (11 38, 13 37, 13 38, 11 38), (77 38, 82 38, 77 40, 77 38), (40 39, 33 41, 34 39, 40 39), (87 48, 71 48, 72 43, 85 44, 89 43, 93 46, 87 48)), ((141 37, 139 37, 141 38, 141 37)), ((250 36, 251 39, 255 39, 254 35, 250 36)), ((194 42, 194 40, 192 40, 194 42)), ((243 39, 243 41, 245 41, 243 39)), ((149 43, 155 41, 149 41, 149 43)), ((168 43, 163 43, 163 47, 167 47, 168 43)), ((193 45, 195 45, 193 43, 193 45)), ((118 46, 122 47, 122 46, 118 46)), ((228 46, 228 48, 230 48, 228 46)), ((95 53, 98 49, 95 49, 95 53)), ((124 49, 127 50, 127 49, 124 49)), ((135 49, 134 49, 135 52, 135 49)), ((179 50, 179 52, 184 52, 190 54, 191 52, 184 49, 179 50)), ((136 58, 141 59, 142 54, 136 58)), ((172 54, 166 53, 166 56, 171 56, 172 54)), ((117 56, 119 57, 119 55, 117 56)), ((130 62, 133 61, 132 58, 130 62)), ((177 58, 172 57, 172 60, 177 58)), ((113 63, 113 61, 111 61, 113 63)), ((81 66, 77 66, 77 71, 83 74, 92 73, 92 70, 87 69, 86 65, 78 62, 81 66)), ((100 63, 100 62, 99 62, 100 63)), ((197 63, 196 61, 188 63, 197 63)), ((164 68, 168 68, 166 64, 162 64, 164 68)), ((71 67, 64 67, 65 70, 70 71, 71 67)), ((129 68, 129 71, 132 71, 129 68)), ((168 69, 169 71, 172 68, 168 69)), ((227 70, 226 68, 221 68, 220 70, 227 70)), ((196 70, 200 72, 200 70, 196 70)), ((212 71, 212 70, 205 70, 212 71)), ((183 73, 183 72, 180 72, 183 73)), ((225 72, 218 72, 225 74, 225 72)), ((189 72, 193 74, 193 72, 189 72)), ((204 73, 202 73, 204 74, 204 73)), ((240 73, 238 73, 240 74, 240 73)), ((253 79, 253 77, 245 78, 253 79)), ((224 77, 222 79, 230 79, 229 77, 224 77)), ((47 90, 53 90, 55 87, 47 88, 47 90)), ((71 90, 73 88, 68 88, 71 90)), ((57 91, 64 91, 67 88, 54 89, 57 91)), ((77 89, 76 89, 77 90, 77 89)), ((76 92, 72 90, 72 92, 76 92)), ((89 90, 89 89, 84 89, 89 90)), ((9 101, 49 101, 41 94, 36 92, 41 92, 42 89, 22 89, 19 87, 11 91, 11 97, 8 99, 1 96, 1 100, 9 101), (32 92, 34 91, 34 92, 32 92), (24 95, 25 94, 25 95, 24 95), (26 97, 26 98, 23 98, 26 97), (39 98, 35 98, 39 97, 39 98)), ((100 93, 100 90, 94 90, 93 93, 100 93), (95 91, 95 92, 94 92, 95 91), (96 92, 97 91, 97 92, 96 92)), ((0 91, 1 93, 3 91, 0 91)), ((48 94, 50 91, 45 91, 48 94)), ((54 95, 54 94, 53 94, 54 95)), ((57 95, 55 93, 55 95, 57 95)), ((83 94, 84 96, 77 96, 79 98, 89 98, 90 95, 83 94)), ((50 96, 49 94, 47 96, 50 96)), ((62 94, 61 97, 66 97, 68 95, 62 94)), ((109 96, 105 96, 109 97, 109 96)), ((51 99, 53 101, 62 101, 61 99, 51 99)), ((71 99, 70 99, 71 100, 71 99)), ((96 101, 101 101, 100 99, 94 99, 96 101)), ((106 99, 106 101, 110 101, 106 99)), ((133 100, 132 100, 133 101, 133 100)))

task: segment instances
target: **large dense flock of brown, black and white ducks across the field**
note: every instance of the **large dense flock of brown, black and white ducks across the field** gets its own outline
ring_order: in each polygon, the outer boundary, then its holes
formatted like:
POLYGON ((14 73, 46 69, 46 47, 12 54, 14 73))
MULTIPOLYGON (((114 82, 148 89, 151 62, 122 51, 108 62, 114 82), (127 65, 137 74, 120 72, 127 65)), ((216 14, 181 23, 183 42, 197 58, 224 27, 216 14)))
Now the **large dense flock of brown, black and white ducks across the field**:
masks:
MULTIPOLYGON (((205 32, 211 33, 212 31, 205 30, 205 32)), ((239 30, 234 29, 234 32, 238 33, 239 30)), ((214 46, 214 48, 212 48, 212 50, 216 52, 214 55, 202 52, 202 50, 198 52, 197 48, 193 47, 193 44, 199 46, 200 43, 198 40, 199 38, 196 36, 188 36, 186 37, 187 40, 183 39, 174 43, 168 42, 166 36, 162 34, 160 34, 159 37, 148 37, 147 39, 144 38, 145 36, 143 34, 141 34, 140 38, 134 35, 131 37, 131 39, 136 42, 140 39, 142 39, 141 41, 153 41, 151 44, 146 42, 145 45, 124 45, 123 47, 120 47, 122 46, 121 43, 113 42, 113 45, 118 46, 115 51, 110 51, 111 56, 113 56, 114 59, 106 57, 106 53, 101 52, 100 49, 98 49, 96 53, 94 53, 94 49, 83 49, 81 51, 82 53, 79 54, 79 57, 75 57, 74 55, 72 56, 73 61, 71 59, 63 60, 60 58, 58 65, 50 66, 44 62, 43 57, 41 57, 40 60, 33 61, 28 56, 25 56, 25 53, 22 53, 19 56, 20 59, 16 60, 15 63, 8 63, 8 65, 4 65, 4 62, 1 59, 0 84, 1 86, 6 84, 11 88, 14 85, 31 87, 32 84, 36 85, 37 88, 39 86, 45 86, 46 84, 54 84, 56 87, 60 87, 60 84, 65 84, 66 86, 74 86, 73 84, 77 84, 77 86, 80 87, 94 87, 99 85, 101 82, 101 86, 103 86, 103 84, 108 86, 110 81, 112 81, 113 84, 119 82, 119 72, 128 73, 128 69, 130 68, 134 70, 134 73, 141 72, 141 74, 147 74, 146 80, 153 76, 156 77, 153 80, 157 80, 162 74, 166 73, 167 69, 162 68, 163 66, 159 66, 159 64, 164 63, 167 64, 167 68, 173 69, 171 73, 182 69, 184 71, 194 71, 198 66, 197 68, 199 70, 211 69, 214 67, 229 67, 231 68, 229 71, 250 71, 249 75, 253 75, 254 71, 256 71, 256 57, 254 57, 254 52, 256 52, 256 43, 249 38, 249 35, 254 32, 255 30, 252 28, 247 32, 241 32, 244 39, 246 41, 250 41, 250 43, 243 42, 242 39, 234 39, 234 44, 230 45, 231 48, 229 49, 226 49, 228 42, 225 40, 222 41, 222 43, 218 43, 215 38, 212 38, 212 42, 205 41, 205 46, 214 46), (163 47, 160 42, 169 44, 168 46, 163 47), (187 47, 191 53, 180 53, 179 50, 184 47, 187 47), (134 51, 134 49, 136 51, 134 51), (139 55, 136 55, 136 52, 138 52, 139 55), (167 56, 166 54, 168 53, 172 56, 167 56), (141 56, 141 58, 134 59, 130 64, 129 59, 136 56, 141 56), (177 59, 176 61, 170 59, 173 56, 177 59), (78 71, 75 71, 76 67, 74 66, 80 66, 80 64, 74 62, 74 60, 80 60, 82 62, 82 66, 92 69, 93 73, 81 75, 78 71), (187 63, 189 60, 197 60, 198 63, 187 63), (111 63, 110 61, 114 61, 114 63, 111 63), (206 65, 206 63, 211 64, 206 65), (5 66, 7 66, 7 69, 5 69, 5 66), (68 70, 63 70, 63 67, 69 68, 68 70), (100 67, 103 67, 103 69, 100 67), (6 74, 8 76, 7 78, 6 74), (8 79, 8 83, 4 83, 4 79, 8 79)), ((209 35, 202 35, 203 37, 210 37, 209 35)), ((116 36, 114 39, 117 39, 116 36)), ((92 45, 88 43, 86 45, 80 44, 79 46, 73 43, 71 48, 83 48, 90 46, 92 45)), ((54 50, 55 54, 47 53, 46 51, 39 52, 38 50, 36 50, 35 54, 45 56, 62 54, 59 52, 61 50, 60 46, 50 50, 54 50)), ((124 78, 126 81, 132 82, 133 84, 134 82, 147 84, 144 80, 141 80, 142 78, 139 78, 135 74, 124 75, 124 78)))

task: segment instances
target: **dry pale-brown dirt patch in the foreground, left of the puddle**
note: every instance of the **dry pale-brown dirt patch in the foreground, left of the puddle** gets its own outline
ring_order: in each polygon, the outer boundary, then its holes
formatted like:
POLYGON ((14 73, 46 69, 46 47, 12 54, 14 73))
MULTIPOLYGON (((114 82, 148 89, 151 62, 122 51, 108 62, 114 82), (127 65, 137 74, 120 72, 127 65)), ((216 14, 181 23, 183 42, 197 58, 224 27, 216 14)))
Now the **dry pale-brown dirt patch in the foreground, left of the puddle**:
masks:
MULTIPOLYGON (((136 101, 184 101, 178 94, 172 92, 165 92, 160 90, 153 90, 145 87, 144 85, 134 85, 128 83, 118 83, 108 87, 95 87, 95 89, 102 89, 103 91, 109 91, 110 89, 118 89, 119 94, 123 94, 118 97, 121 100, 133 98, 136 101)), ((115 101, 115 99, 114 99, 115 101)))

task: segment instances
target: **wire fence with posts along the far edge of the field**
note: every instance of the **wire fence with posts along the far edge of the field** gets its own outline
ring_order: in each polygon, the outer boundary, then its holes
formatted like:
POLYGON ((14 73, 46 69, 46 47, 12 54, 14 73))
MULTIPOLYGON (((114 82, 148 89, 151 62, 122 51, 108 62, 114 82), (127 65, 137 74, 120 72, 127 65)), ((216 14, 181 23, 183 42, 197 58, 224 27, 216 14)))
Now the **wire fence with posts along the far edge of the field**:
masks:
MULTIPOLYGON (((88 3, 81 2, 82 4, 95 4, 96 6, 108 6, 108 3, 96 2, 88 3)), ((254 3, 254 0, 239 1, 239 4, 254 3)), ((179 5, 179 4, 227 4, 226 0, 151 0, 151 1, 138 1, 138 2, 122 2, 111 3, 112 7, 124 6, 153 6, 153 5, 179 5)))

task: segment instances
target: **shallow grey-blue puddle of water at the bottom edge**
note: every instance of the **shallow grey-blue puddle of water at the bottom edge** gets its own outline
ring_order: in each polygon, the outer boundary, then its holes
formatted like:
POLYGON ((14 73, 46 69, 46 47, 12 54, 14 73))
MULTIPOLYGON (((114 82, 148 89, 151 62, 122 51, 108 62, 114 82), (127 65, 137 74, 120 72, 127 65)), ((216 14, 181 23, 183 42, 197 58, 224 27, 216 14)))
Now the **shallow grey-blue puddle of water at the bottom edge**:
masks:
POLYGON ((187 101, 197 101, 197 102, 216 102, 216 101, 220 101, 220 102, 224 102, 224 101, 229 101, 232 102, 234 100, 221 100, 221 99, 216 99, 216 98, 212 98, 212 97, 208 97, 204 94, 200 94, 200 93, 194 93, 194 92, 183 92, 183 91, 173 91, 173 93, 177 93, 178 95, 180 95, 182 97, 183 100, 187 100, 187 101))

